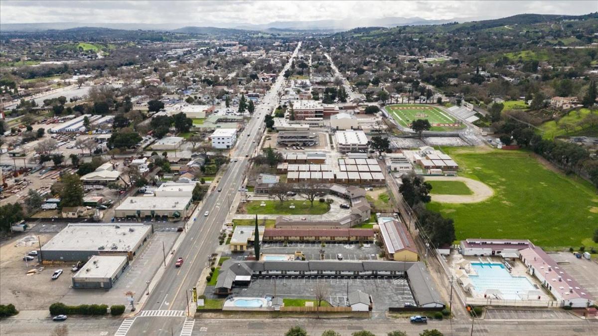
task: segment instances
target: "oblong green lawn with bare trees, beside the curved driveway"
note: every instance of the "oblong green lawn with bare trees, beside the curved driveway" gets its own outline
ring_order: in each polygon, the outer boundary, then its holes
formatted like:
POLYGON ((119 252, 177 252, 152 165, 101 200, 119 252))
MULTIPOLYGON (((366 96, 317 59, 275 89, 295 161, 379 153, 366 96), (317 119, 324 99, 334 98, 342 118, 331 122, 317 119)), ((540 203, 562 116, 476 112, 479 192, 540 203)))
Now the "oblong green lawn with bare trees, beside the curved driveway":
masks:
POLYGON ((326 203, 313 202, 313 207, 309 201, 306 200, 292 200, 292 201, 248 201, 245 204, 247 213, 258 215, 322 215, 330 210, 330 206, 326 203), (260 203, 266 203, 266 206, 260 206, 260 203), (289 209, 291 204, 295 205, 294 209, 289 209))

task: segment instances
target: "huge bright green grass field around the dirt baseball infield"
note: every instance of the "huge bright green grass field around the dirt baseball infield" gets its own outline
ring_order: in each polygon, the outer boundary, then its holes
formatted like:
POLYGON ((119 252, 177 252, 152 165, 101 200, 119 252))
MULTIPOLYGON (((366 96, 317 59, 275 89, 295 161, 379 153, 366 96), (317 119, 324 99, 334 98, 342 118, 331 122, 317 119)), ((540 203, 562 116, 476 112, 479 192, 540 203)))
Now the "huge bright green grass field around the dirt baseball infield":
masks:
POLYGON ((598 246, 591 242, 598 223, 598 194, 588 182, 548 170, 526 151, 444 151, 459 163, 460 175, 495 190, 480 203, 428 204, 454 219, 458 240, 529 239, 546 248, 598 246))

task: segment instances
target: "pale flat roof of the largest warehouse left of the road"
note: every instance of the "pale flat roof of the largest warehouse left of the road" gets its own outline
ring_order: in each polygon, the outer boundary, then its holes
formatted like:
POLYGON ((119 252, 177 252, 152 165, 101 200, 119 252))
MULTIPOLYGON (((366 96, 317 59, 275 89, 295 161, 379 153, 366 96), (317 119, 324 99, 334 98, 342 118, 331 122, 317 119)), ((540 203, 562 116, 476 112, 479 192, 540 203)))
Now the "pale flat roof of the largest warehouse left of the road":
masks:
POLYGON ((69 224, 41 250, 129 252, 151 230, 144 224, 69 224))

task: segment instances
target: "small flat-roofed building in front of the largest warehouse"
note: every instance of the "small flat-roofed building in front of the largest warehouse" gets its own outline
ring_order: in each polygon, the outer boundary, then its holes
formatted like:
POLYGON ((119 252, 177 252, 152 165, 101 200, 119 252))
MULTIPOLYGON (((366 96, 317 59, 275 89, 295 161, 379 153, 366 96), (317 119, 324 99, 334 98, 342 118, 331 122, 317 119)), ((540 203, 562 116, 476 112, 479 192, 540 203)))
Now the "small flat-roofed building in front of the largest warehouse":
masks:
POLYGON ((127 266, 127 256, 94 255, 72 277, 73 288, 112 288, 127 266))

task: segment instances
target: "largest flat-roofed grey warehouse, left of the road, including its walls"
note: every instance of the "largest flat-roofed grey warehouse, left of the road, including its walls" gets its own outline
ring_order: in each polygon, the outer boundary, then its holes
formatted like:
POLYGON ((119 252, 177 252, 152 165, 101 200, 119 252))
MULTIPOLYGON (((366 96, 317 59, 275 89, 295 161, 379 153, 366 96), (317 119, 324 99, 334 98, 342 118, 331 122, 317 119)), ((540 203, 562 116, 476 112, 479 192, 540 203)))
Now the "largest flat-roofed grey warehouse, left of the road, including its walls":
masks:
POLYGON ((39 261, 87 261, 94 255, 132 260, 154 233, 144 224, 69 224, 38 252, 39 261))

